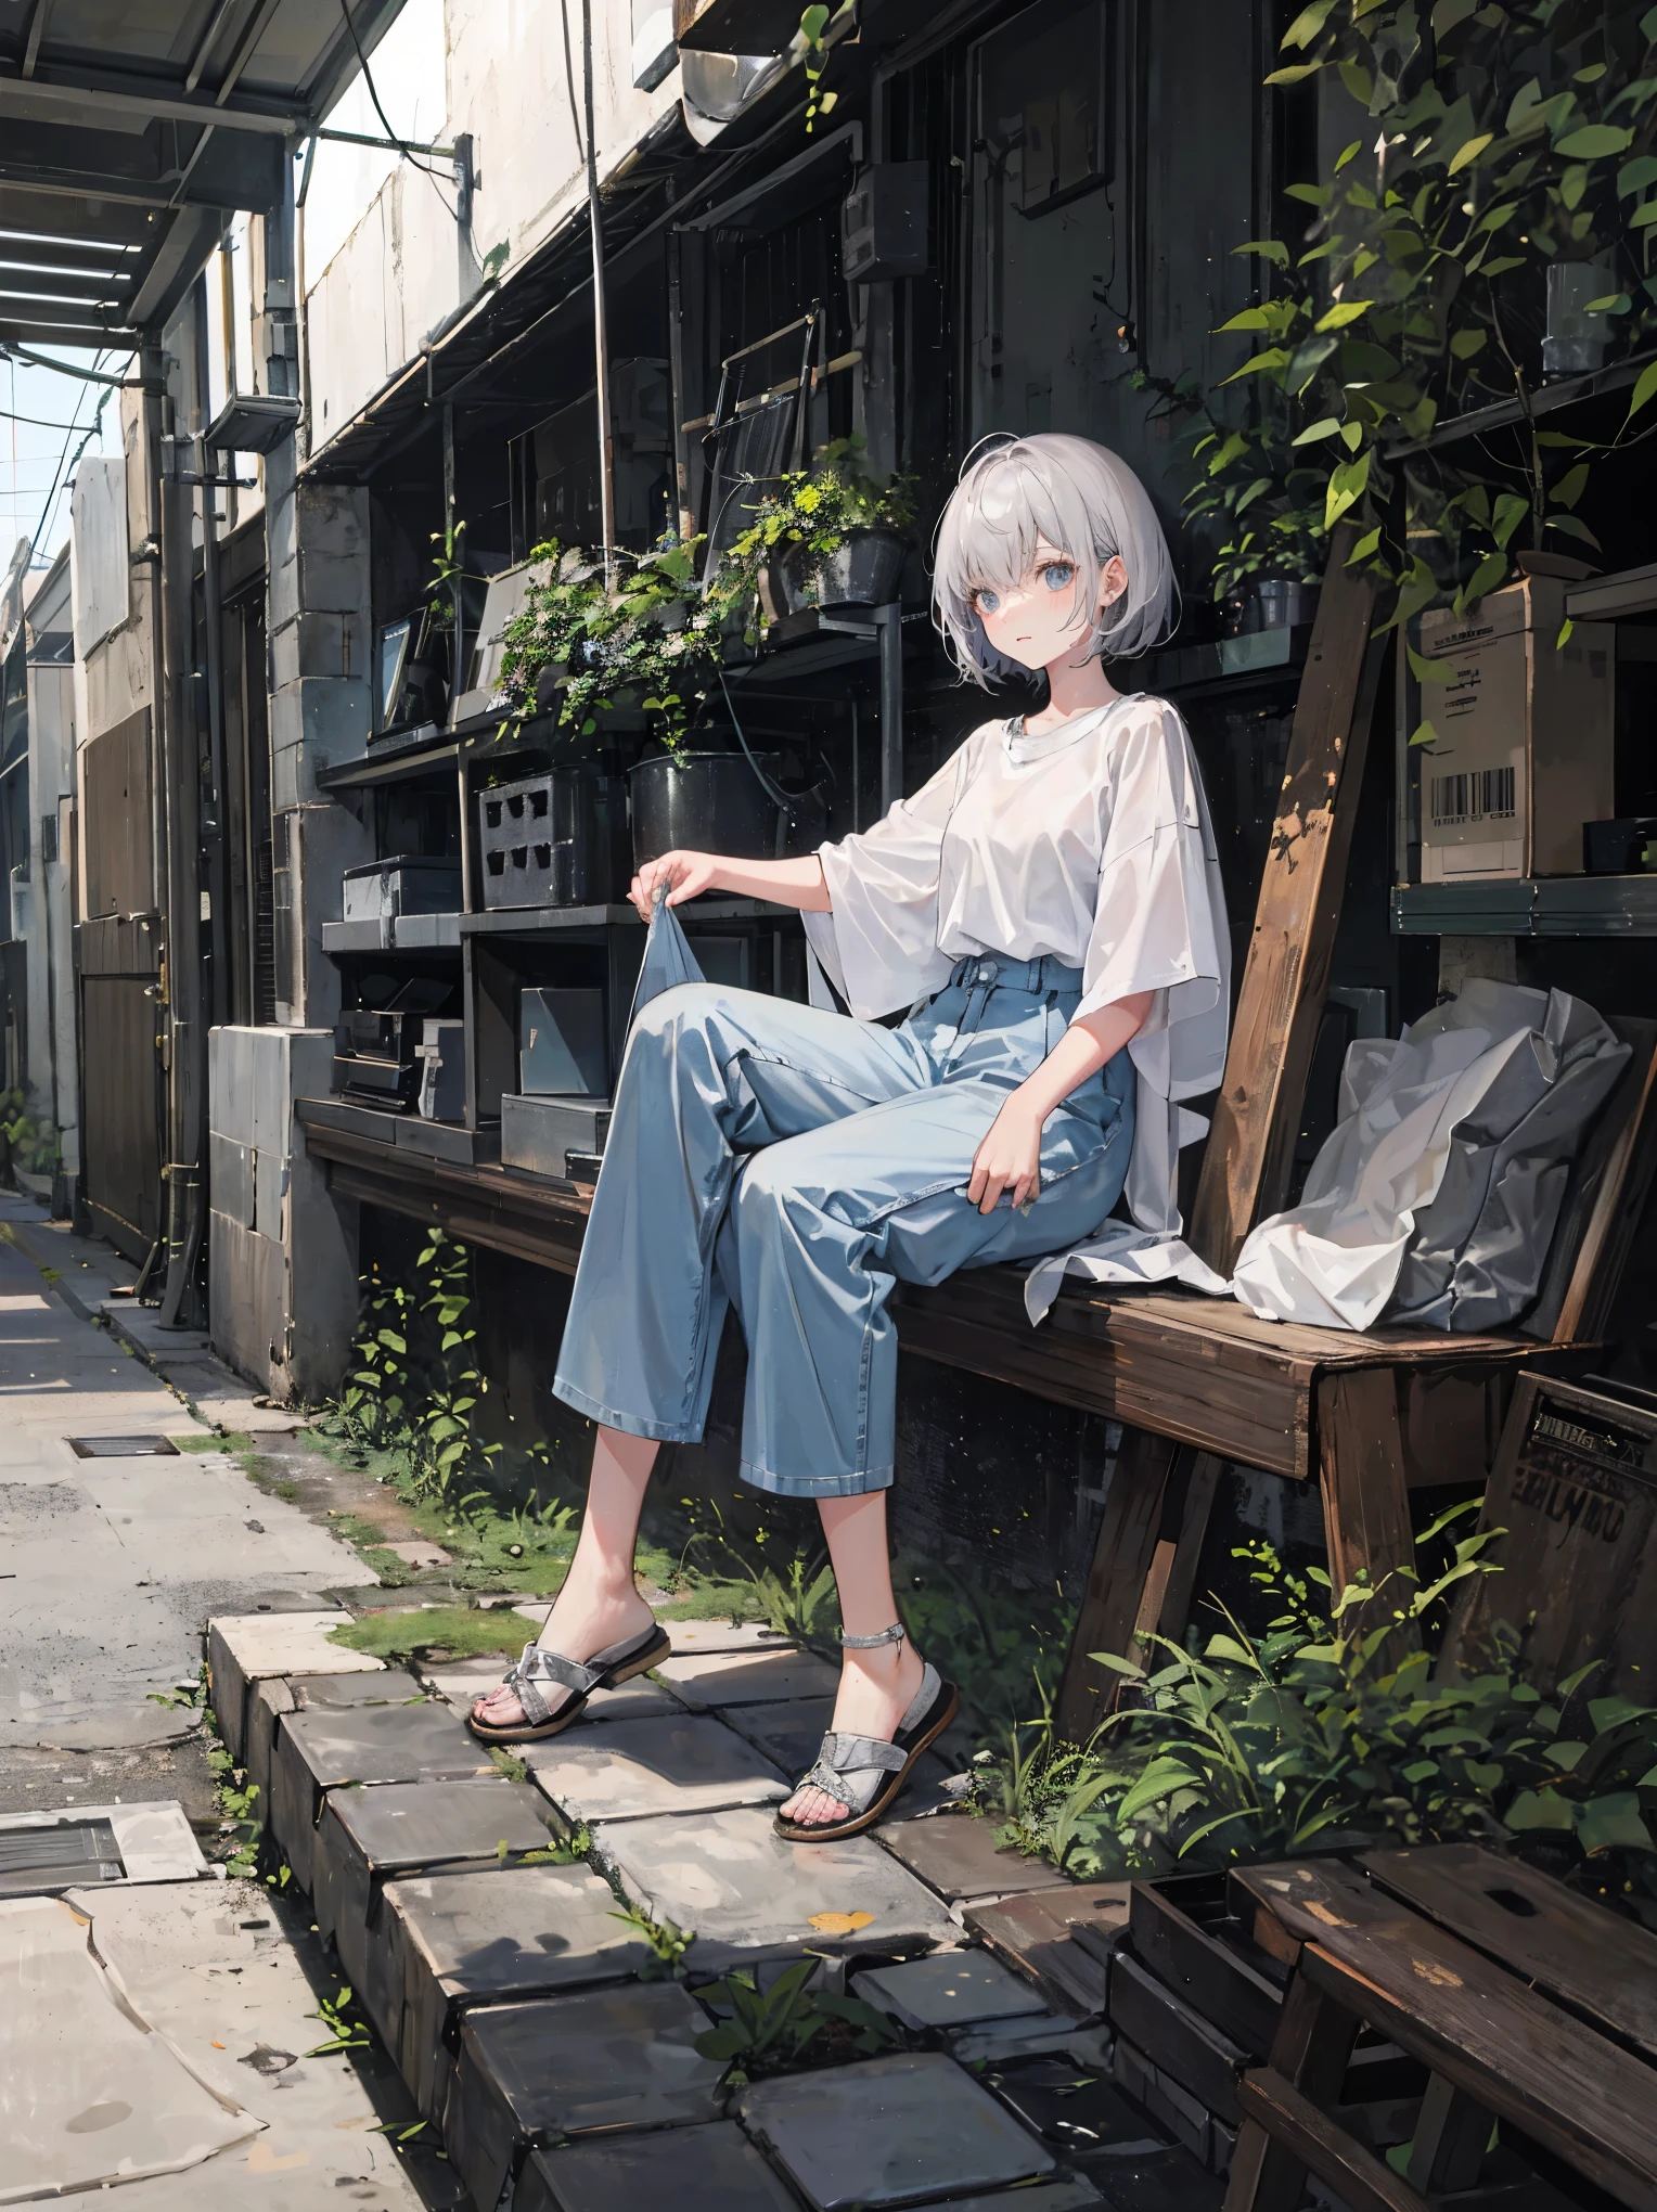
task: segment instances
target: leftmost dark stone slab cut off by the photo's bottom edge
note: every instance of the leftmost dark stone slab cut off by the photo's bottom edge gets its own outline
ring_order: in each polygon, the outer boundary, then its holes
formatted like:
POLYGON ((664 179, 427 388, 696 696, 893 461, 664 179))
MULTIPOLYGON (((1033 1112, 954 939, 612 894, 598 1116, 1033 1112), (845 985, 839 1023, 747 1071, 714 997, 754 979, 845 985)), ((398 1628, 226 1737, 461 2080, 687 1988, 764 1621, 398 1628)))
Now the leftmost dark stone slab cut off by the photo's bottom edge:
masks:
POLYGON ((513 2212, 642 2212, 644 2205, 673 2205, 673 2212, 799 2212, 794 2192, 734 2119, 535 2150, 513 2197, 513 2212))

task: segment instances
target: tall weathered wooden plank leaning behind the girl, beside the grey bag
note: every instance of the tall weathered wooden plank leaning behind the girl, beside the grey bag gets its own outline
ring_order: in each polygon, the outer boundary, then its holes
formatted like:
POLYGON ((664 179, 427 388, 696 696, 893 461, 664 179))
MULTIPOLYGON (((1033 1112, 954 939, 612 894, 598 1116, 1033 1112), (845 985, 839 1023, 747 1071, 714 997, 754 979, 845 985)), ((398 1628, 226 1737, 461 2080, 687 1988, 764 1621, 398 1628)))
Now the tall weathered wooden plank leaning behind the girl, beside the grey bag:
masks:
POLYGON ((1294 703, 1288 774, 1265 858, 1226 1075, 1208 1133, 1190 1243, 1221 1274, 1259 1214, 1283 1206, 1363 787, 1380 639, 1374 577, 1347 568, 1356 531, 1330 540, 1294 703))

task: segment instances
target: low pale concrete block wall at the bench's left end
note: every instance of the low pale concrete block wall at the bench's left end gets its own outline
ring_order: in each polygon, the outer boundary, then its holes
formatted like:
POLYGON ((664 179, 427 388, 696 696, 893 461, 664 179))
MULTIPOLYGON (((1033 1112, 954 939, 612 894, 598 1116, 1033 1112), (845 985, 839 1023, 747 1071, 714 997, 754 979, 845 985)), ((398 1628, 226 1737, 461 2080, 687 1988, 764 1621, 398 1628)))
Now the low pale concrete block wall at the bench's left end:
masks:
POLYGON ((327 1095, 327 1029, 208 1035, 212 1347, 274 1398, 338 1389, 356 1329, 356 1208, 308 1159, 296 1097, 327 1095))

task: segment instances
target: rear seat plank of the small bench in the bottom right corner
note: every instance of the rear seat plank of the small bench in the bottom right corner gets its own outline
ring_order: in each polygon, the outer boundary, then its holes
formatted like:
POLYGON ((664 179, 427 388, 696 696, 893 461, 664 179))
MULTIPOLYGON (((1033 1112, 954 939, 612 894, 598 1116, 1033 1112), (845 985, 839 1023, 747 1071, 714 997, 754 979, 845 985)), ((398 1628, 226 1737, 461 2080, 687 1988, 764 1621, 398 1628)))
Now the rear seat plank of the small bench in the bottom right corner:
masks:
POLYGON ((1657 1936, 1637 1920, 1476 1843, 1365 1851, 1361 1867, 1389 1896, 1657 2059, 1657 1936))

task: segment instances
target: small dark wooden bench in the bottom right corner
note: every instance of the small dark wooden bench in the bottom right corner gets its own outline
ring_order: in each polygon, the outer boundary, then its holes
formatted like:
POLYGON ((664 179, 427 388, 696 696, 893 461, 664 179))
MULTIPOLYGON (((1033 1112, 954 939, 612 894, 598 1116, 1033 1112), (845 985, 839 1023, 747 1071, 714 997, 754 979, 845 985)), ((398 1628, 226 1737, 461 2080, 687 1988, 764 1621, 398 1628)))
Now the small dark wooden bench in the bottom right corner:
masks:
POLYGON ((1478 2188, 1491 2121, 1657 2212, 1657 1938, 1473 1845, 1250 1867, 1230 1887, 1294 1980, 1270 2062, 1239 2086, 1226 2212, 1294 2212, 1307 2172, 1352 2212, 1429 2212, 1478 2188), (1407 2174, 1338 2117, 1365 2026, 1429 2073, 1407 2174))

